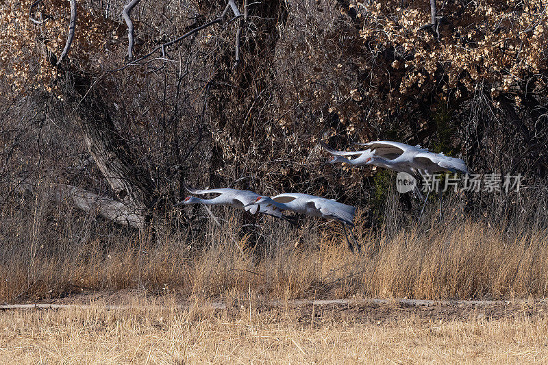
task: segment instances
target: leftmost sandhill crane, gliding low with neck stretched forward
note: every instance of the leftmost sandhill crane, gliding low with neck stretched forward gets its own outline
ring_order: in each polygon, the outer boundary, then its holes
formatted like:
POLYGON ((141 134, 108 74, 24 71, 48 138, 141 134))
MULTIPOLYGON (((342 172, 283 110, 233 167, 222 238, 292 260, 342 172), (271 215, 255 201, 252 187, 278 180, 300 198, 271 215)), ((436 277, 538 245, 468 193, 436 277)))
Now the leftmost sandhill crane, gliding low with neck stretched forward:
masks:
POLYGON ((199 189, 190 188, 186 185, 184 185, 184 188, 192 194, 199 194, 199 195, 219 194, 219 196, 213 199, 186 197, 184 201, 180 201, 179 203, 173 206, 177 207, 179 205, 188 205, 188 204, 196 204, 196 203, 201 203, 203 205, 227 205, 230 207, 236 207, 239 209, 246 210, 247 212, 251 214, 256 214, 257 212, 259 212, 262 214, 268 214, 269 216, 275 216, 276 218, 281 218, 284 221, 288 221, 292 225, 295 225, 295 221, 292 219, 292 217, 282 215, 282 209, 280 209, 279 205, 277 204, 273 205, 271 203, 265 202, 261 204, 250 205, 250 203, 256 202, 258 198, 260 197, 260 195, 257 194, 256 192, 252 192, 249 190, 231 189, 231 188, 199 190, 199 189))

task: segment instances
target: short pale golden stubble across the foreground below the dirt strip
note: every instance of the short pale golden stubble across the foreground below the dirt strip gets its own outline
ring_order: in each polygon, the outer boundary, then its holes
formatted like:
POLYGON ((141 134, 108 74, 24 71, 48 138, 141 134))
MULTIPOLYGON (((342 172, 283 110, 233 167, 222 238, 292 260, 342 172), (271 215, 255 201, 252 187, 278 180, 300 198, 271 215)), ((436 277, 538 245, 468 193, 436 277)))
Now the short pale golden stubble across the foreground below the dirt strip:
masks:
MULTIPOLYGON (((0 312, 0 364, 545 364, 548 317, 387 320, 329 307, 225 310, 171 299, 134 299, 139 309, 96 305, 69 310, 0 312), (166 303, 167 302, 167 303, 166 303), (171 302, 173 304, 173 302, 171 302), (315 313, 314 313, 315 312, 315 313), (312 318, 314 321, 312 322, 312 318), (381 323, 382 322, 382 323, 381 323)), ((393 308, 397 312, 397 308, 393 308)))

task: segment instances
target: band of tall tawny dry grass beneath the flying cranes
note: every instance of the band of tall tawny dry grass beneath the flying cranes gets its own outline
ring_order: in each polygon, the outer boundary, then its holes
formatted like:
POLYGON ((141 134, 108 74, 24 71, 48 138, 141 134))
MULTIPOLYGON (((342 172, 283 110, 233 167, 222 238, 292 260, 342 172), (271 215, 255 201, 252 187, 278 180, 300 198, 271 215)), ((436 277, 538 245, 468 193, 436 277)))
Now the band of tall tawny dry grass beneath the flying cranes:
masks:
POLYGON ((349 253, 336 223, 317 219, 292 228, 262 217, 242 227, 242 213, 219 209, 221 227, 209 219, 197 232, 160 230, 151 242, 40 197, 25 202, 1 210, 0 301, 124 288, 228 301, 251 294, 277 300, 548 295, 547 220, 532 212, 498 223, 472 220, 458 195, 446 199, 441 222, 435 201, 416 223, 391 199, 377 229, 366 227, 368 213, 360 210, 354 231, 362 256, 349 253))

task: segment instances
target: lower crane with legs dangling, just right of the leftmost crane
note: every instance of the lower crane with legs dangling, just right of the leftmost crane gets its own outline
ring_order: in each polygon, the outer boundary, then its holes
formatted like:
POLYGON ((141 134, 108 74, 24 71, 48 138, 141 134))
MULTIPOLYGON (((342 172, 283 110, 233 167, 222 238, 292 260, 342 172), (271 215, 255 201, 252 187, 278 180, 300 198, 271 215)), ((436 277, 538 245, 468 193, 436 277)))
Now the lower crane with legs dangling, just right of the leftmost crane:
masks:
POLYGON ((361 255, 361 246, 352 232, 352 227, 354 227, 354 212, 356 211, 355 207, 339 203, 338 201, 334 201, 332 199, 325 199, 322 197, 297 192, 278 194, 271 198, 258 197, 255 202, 251 203, 250 206, 257 204, 260 205, 262 203, 276 205, 281 210, 292 210, 293 212, 305 214, 307 216, 318 216, 338 221, 338 223, 343 226, 348 248, 353 253, 354 247, 348 239, 347 234, 348 226, 350 234, 356 244, 356 248, 358 249, 358 253, 361 255))

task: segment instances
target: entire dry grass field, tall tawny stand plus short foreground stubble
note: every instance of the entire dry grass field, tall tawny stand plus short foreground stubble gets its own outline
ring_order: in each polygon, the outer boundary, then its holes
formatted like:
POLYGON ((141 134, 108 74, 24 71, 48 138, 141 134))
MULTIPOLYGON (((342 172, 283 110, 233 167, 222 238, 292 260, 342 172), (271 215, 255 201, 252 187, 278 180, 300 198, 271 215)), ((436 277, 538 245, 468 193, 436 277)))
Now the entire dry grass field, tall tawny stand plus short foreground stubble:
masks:
POLYGON ((240 214, 216 210, 221 227, 151 241, 51 209, 3 212, 0 301, 90 306, 0 312, 1 364, 548 362, 540 219, 473 221, 449 202, 441 222, 434 209, 421 224, 386 214, 372 230, 360 212, 359 256, 314 220, 261 218, 253 236, 240 214), (405 297, 510 304, 366 301, 405 297), (295 301, 342 298, 353 304, 295 301))

